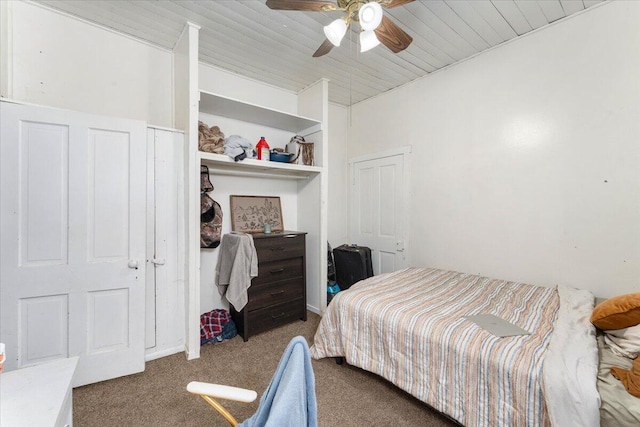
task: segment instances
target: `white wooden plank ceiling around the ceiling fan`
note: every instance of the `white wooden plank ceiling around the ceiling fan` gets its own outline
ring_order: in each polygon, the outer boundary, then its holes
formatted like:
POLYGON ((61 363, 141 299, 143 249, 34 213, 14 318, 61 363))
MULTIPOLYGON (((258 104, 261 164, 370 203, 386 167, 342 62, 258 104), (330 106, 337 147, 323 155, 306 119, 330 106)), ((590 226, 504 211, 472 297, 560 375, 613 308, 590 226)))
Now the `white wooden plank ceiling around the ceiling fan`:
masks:
POLYGON ((330 80, 329 100, 351 105, 602 0, 424 0, 385 10, 413 43, 394 54, 358 50, 359 26, 320 58, 323 27, 341 12, 269 9, 264 0, 37 0, 90 22, 172 49, 185 22, 201 26, 200 60, 298 92, 330 80))

